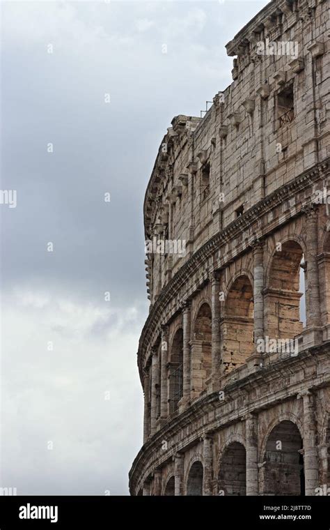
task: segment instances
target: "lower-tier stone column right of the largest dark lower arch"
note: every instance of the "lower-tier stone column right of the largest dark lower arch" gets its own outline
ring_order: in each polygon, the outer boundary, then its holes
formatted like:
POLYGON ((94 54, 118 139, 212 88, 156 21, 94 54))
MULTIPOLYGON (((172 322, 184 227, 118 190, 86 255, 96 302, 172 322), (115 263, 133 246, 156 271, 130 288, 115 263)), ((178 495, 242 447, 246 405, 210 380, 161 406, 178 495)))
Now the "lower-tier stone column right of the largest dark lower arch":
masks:
POLYGON ((318 484, 316 448, 316 420, 314 396, 310 391, 301 393, 304 405, 304 473, 305 494, 315 495, 318 484))

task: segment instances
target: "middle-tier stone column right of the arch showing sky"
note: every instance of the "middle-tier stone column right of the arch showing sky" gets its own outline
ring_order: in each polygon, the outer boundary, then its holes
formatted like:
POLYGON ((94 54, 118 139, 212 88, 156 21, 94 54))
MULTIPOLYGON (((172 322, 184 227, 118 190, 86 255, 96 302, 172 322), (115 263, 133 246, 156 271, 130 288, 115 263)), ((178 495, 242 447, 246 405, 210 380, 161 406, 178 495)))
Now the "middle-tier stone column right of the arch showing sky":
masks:
POLYGON ((317 208, 305 209, 306 213, 306 249, 307 249, 307 282, 308 308, 306 308, 306 326, 321 325, 320 313, 320 285, 317 266, 317 208))

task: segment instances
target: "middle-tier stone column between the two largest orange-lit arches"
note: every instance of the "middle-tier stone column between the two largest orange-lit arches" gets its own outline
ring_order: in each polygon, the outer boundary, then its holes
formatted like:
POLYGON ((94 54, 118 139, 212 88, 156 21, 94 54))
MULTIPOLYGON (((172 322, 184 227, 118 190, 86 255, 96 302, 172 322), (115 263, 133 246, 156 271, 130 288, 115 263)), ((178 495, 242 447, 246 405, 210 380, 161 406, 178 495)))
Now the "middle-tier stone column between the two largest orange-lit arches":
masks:
POLYGON ((263 243, 258 241, 253 247, 254 260, 254 280, 253 280, 253 315, 254 315, 254 342, 258 338, 264 338, 264 263, 263 263, 263 243))

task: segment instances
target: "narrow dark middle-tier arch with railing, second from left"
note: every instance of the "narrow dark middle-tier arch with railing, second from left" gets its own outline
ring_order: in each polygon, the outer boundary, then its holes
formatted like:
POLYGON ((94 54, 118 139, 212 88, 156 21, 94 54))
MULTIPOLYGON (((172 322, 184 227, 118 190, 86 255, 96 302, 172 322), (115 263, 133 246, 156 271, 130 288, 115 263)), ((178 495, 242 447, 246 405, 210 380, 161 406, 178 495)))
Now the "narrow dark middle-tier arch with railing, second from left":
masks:
POLYGON ((170 414, 172 414, 178 410, 178 402, 183 395, 183 331, 181 328, 175 333, 172 341, 168 370, 168 403, 170 414))

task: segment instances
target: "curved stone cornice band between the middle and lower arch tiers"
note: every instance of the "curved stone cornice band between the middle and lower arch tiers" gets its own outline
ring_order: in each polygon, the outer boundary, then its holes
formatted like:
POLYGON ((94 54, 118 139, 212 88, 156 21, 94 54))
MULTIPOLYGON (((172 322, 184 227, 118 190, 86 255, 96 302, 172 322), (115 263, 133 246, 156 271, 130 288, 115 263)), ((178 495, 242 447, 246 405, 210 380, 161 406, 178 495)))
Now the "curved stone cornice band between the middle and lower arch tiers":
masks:
MULTIPOLYGON (((298 370, 304 370, 307 366, 312 367, 318 362, 321 363, 324 356, 329 357, 329 346, 330 342, 324 342, 322 345, 306 349, 301 351, 299 356, 285 358, 278 360, 277 362, 265 365, 260 368, 257 372, 249 374, 244 379, 239 379, 230 382, 226 387, 222 388, 226 395, 226 400, 219 401, 219 393, 214 392, 209 395, 205 395, 200 398, 197 402, 191 405, 182 414, 175 416, 171 419, 161 430, 153 435, 146 444, 143 445, 141 450, 132 464, 132 469, 129 471, 129 486, 131 493, 136 490, 137 480, 145 480, 148 475, 148 470, 152 467, 157 467, 164 464, 171 457, 172 453, 175 454, 178 451, 184 450, 189 446, 197 444, 199 439, 205 434, 205 427, 198 425, 198 420, 201 420, 203 416, 209 418, 207 423, 207 432, 217 431, 219 428, 224 428, 231 423, 235 423, 237 418, 246 418, 249 413, 258 414, 263 409, 274 407, 277 403, 283 402, 284 400, 292 399, 301 393, 301 381, 292 380, 292 384, 288 388, 285 388, 284 379, 292 377, 293 374, 297 374, 298 370), (282 381, 282 385, 278 385, 278 391, 275 393, 267 393, 267 386, 274 384, 274 380, 282 381), (260 389, 258 398, 253 398, 252 401, 242 404, 239 411, 234 407, 230 411, 226 411, 226 414, 214 414, 213 421, 210 420, 210 414, 212 411, 217 411, 223 404, 235 402, 239 398, 249 398, 249 392, 255 388, 260 389), (262 388, 264 392, 262 392, 262 388), (283 391, 285 395, 283 397, 283 391), (265 396, 267 395, 267 399, 265 396), (179 444, 171 447, 167 453, 162 455, 161 458, 157 456, 157 449, 162 446, 162 440, 166 439, 168 442, 173 439, 175 434, 182 432, 185 426, 194 425, 195 429, 189 433, 187 437, 180 440, 179 444)), ((330 385, 330 376, 324 379, 324 373, 315 370, 314 374, 310 374, 308 379, 304 380, 304 386, 306 391, 311 388, 322 388, 330 385)), ((203 422, 201 422, 203 424, 203 422)))

